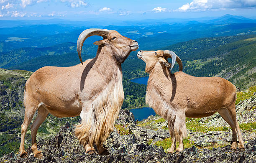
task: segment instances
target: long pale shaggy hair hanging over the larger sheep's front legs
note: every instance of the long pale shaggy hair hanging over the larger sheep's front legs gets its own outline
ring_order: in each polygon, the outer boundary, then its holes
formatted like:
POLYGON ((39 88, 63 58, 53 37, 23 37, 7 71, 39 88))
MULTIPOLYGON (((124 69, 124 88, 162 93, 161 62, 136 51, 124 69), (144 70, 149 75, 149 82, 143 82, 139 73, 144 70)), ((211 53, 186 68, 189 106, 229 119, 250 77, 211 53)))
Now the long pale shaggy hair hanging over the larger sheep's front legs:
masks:
MULTIPOLYGON (((77 125, 75 129, 75 135, 85 150, 87 150, 88 145, 92 148, 96 144, 100 155, 108 154, 102 144, 113 131, 115 120, 123 104, 123 101, 119 101, 119 97, 123 95, 119 87, 110 89, 111 93, 106 92, 106 90, 91 104, 83 104, 80 113, 82 123, 77 125)), ((92 148, 92 150, 94 149, 92 148)))

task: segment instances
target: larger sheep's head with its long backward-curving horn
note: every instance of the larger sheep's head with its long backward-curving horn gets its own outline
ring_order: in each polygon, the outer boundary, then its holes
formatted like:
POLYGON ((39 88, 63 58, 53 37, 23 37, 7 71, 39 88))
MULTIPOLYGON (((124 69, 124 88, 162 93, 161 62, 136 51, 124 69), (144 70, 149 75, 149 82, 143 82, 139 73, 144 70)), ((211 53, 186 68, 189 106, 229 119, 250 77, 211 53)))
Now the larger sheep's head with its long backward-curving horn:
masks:
POLYGON ((83 43, 86 38, 95 35, 102 36, 103 39, 100 41, 96 41, 93 44, 98 45, 100 48, 102 48, 103 46, 108 46, 112 51, 113 57, 120 63, 123 63, 125 61, 131 51, 136 51, 138 49, 137 41, 122 36, 117 31, 97 28, 87 29, 80 34, 77 40, 77 52, 82 64, 83 62, 81 53, 83 43))

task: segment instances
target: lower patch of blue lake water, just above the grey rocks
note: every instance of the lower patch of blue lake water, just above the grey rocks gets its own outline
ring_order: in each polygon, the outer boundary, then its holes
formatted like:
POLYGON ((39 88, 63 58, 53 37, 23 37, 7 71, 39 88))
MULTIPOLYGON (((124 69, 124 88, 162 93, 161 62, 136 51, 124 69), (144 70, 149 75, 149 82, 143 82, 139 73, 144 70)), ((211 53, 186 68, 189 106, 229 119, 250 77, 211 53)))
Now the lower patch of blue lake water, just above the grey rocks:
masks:
POLYGON ((131 109, 130 112, 133 113, 134 120, 139 120, 139 121, 148 118, 149 115, 156 115, 156 113, 151 107, 131 109))

